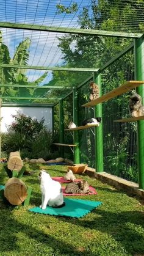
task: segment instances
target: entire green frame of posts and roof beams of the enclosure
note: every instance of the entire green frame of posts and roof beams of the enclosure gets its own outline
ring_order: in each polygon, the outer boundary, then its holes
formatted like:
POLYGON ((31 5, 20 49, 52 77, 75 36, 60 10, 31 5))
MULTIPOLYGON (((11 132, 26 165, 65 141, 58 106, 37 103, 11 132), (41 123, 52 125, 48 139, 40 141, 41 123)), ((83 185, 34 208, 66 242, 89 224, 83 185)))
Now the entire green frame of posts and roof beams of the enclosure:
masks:
MULTIPOLYGON (((137 33, 126 33, 126 32, 114 32, 114 31, 99 31, 95 29, 72 29, 67 27, 49 27, 49 26, 39 26, 34 24, 16 24, 16 23, 0 23, 0 27, 7 27, 13 29, 27 29, 27 30, 34 30, 34 31, 51 31, 51 32, 65 32, 68 34, 83 34, 83 35, 102 35, 102 36, 109 36, 109 37, 125 37, 125 38, 134 38, 134 44, 132 43, 126 49, 121 51, 116 57, 109 60, 107 64, 105 64, 101 68, 60 68, 60 67, 35 67, 35 66, 18 66, 18 65, 7 65, 1 64, 0 67, 5 68, 26 68, 26 69, 38 69, 38 70, 65 70, 65 71, 88 71, 94 72, 93 76, 90 76, 85 82, 82 82, 77 87, 65 87, 65 89, 71 89, 71 91, 63 98, 51 98, 49 100, 59 101, 59 128, 60 128, 60 143, 64 142, 64 117, 63 117, 63 100, 68 97, 71 93, 73 93, 73 122, 78 124, 78 91, 79 87, 83 86, 86 82, 93 79, 99 85, 99 96, 101 95, 101 72, 109 67, 115 60, 119 59, 121 56, 124 56, 129 49, 134 47, 135 50, 135 79, 137 80, 144 80, 144 40, 143 34, 137 33)), ((0 87, 26 87, 25 85, 6 85, 0 84, 0 87)), ((38 86, 30 86, 31 88, 38 88, 38 86)), ((57 89, 60 89, 59 85, 54 86, 57 89)), ((54 88, 51 87, 51 88, 54 88)), ((50 88, 49 86, 44 86, 43 88, 50 88)), ((39 88, 40 89, 40 88, 39 88)), ((42 87, 41 87, 42 89, 42 87)), ((63 88, 64 89, 64 88, 63 88)), ((144 104, 144 87, 138 87, 137 92, 143 97, 143 104, 144 104)), ((5 97, 1 97, 4 98, 5 97)), ((15 99, 15 97, 6 97, 15 99)), ((27 100, 34 100, 38 98, 34 97, 21 97, 20 99, 27 99, 27 100)), ((40 98, 40 99, 47 99, 47 98, 40 98)), ((56 103, 56 102, 55 102, 56 103)), ((57 103, 56 103, 57 104, 57 103)), ((12 103, 5 103, 5 106, 12 106, 12 103)), ((2 104, 4 106, 4 104, 2 104)), ((26 106, 30 106, 29 103, 26 106)), ((44 106, 44 105, 43 105, 44 106)), ((49 105, 50 106, 50 105, 49 105)), ((52 117, 53 117, 53 107, 54 104, 51 105, 52 107, 52 117)), ((102 116, 102 104, 98 104, 94 107, 95 117, 102 116)), ((54 122, 54 120, 52 120, 54 122)), ((74 147, 74 163, 80 163, 80 149, 79 149, 79 133, 78 131, 73 131, 74 139, 73 142, 77 146, 74 147)), ((138 148, 137 148, 137 158, 138 158, 138 167, 139 167, 139 188, 144 189, 144 120, 137 121, 137 141, 138 141, 138 148)), ((64 148, 60 147, 60 154, 64 156, 64 148)), ((103 172, 103 125, 95 128, 95 166, 96 172, 103 172)))

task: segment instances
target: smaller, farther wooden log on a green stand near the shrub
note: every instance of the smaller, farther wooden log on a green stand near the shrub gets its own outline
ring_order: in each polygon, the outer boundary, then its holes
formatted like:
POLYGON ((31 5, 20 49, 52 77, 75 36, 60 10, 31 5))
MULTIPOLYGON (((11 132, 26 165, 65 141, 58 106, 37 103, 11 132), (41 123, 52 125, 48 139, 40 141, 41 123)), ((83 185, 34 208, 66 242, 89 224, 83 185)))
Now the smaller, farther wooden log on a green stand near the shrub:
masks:
POLYGON ((20 156, 20 152, 10 152, 7 168, 9 170, 17 170, 18 172, 23 167, 23 161, 20 156))

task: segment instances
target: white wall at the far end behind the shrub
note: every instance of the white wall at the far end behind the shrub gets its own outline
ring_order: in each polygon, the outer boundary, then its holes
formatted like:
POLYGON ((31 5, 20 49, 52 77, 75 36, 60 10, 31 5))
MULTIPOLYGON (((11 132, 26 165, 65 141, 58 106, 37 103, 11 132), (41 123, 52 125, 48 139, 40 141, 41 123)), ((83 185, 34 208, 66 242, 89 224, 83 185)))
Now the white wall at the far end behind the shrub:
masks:
POLYGON ((12 115, 20 114, 29 115, 40 121, 42 117, 45 119, 45 125, 52 130, 52 108, 32 108, 32 107, 2 107, 1 108, 1 133, 7 132, 7 125, 11 125, 15 119, 12 115))

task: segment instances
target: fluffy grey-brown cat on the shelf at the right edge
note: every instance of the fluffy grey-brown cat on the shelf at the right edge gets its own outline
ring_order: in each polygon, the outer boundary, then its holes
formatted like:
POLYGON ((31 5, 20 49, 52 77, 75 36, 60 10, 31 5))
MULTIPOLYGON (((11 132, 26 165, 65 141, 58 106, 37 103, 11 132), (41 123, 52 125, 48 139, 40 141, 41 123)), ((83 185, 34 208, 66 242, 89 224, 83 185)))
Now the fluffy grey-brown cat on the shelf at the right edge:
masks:
POLYGON ((142 106, 142 97, 134 93, 129 98, 129 112, 132 117, 141 117, 144 115, 144 106, 142 106))

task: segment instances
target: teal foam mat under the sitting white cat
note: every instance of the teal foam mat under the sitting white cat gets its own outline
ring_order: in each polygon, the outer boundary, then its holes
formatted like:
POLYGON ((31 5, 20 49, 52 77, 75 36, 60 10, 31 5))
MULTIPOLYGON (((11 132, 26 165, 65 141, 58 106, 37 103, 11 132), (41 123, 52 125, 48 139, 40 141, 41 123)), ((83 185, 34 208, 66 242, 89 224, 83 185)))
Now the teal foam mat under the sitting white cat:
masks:
POLYGON ((99 201, 90 201, 82 199, 66 199, 65 198, 65 207, 62 208, 52 208, 46 207, 45 210, 42 210, 40 207, 35 207, 29 209, 33 213, 42 213, 55 216, 67 216, 71 218, 81 218, 86 214, 90 213, 93 209, 101 205, 99 201))

